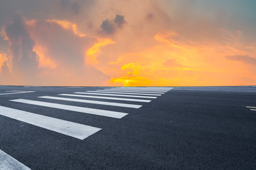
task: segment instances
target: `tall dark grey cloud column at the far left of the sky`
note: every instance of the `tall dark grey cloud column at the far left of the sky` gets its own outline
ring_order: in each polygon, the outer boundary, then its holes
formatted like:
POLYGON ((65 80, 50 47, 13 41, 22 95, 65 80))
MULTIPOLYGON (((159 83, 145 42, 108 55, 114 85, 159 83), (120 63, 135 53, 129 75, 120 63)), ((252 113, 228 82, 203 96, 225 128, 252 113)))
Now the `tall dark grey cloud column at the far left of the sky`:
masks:
POLYGON ((13 67, 28 71, 28 73, 31 69, 36 69, 37 55, 36 52, 33 52, 35 42, 27 31, 21 12, 14 14, 14 20, 6 24, 4 31, 9 40, 13 67))

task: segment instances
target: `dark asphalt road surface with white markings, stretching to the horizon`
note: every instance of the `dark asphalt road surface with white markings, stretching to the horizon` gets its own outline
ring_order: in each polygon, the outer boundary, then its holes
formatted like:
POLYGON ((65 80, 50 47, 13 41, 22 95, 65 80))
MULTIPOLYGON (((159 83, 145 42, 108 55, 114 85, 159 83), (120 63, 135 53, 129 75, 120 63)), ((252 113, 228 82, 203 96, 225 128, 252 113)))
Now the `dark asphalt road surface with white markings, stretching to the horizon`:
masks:
POLYGON ((256 169, 256 87, 0 86, 0 169, 256 169))

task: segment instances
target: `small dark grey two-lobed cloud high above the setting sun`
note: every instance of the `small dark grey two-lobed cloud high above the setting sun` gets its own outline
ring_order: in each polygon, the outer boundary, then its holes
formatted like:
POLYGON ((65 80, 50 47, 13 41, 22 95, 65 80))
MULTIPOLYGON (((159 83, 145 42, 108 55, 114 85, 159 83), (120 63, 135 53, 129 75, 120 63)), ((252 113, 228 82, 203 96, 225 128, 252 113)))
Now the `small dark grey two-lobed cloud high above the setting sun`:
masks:
POLYGON ((117 31, 117 28, 122 28, 122 26, 126 23, 124 20, 124 16, 116 15, 113 20, 106 19, 105 21, 102 21, 102 25, 100 28, 102 28, 102 33, 105 33, 107 35, 112 35, 117 31))

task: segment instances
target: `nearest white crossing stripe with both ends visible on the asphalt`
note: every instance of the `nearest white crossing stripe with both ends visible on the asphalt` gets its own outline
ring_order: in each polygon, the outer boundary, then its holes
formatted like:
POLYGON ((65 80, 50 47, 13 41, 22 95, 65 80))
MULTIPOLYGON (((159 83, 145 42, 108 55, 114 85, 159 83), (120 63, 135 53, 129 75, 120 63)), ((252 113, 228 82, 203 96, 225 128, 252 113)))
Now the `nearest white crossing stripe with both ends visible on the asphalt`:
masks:
POLYGON ((102 115, 110 118, 123 118, 125 115, 128 115, 128 113, 122 113, 122 112, 116 112, 116 111, 105 111, 105 110, 100 110, 96 108, 83 108, 78 106, 69 106, 69 105, 63 105, 63 104, 57 104, 57 103, 48 103, 43 101, 31 101, 26 99, 15 99, 11 101, 16 101, 19 103, 27 103, 27 104, 36 105, 36 106, 44 106, 48 108, 58 108, 66 111, 75 111, 75 112, 87 113, 92 115, 102 115))

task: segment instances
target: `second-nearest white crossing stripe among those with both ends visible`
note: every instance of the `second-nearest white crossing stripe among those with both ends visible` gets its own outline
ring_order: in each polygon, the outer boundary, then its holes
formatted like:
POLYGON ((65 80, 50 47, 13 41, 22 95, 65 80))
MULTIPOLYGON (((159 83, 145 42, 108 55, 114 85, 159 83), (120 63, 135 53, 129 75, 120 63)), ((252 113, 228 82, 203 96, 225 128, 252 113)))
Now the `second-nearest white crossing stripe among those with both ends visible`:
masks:
POLYGON ((48 98, 48 99, 61 100, 61 101, 75 101, 75 102, 81 102, 81 103, 93 103, 93 104, 100 104, 100 105, 107 105, 107 106, 119 106, 124 108, 142 107, 142 105, 114 103, 114 102, 105 102, 105 101, 89 101, 89 100, 82 100, 82 99, 76 99, 76 98, 60 98, 60 97, 52 97, 52 96, 40 96, 38 98, 48 98))

